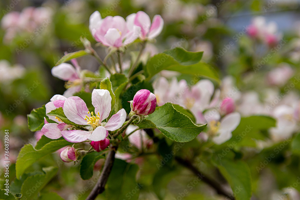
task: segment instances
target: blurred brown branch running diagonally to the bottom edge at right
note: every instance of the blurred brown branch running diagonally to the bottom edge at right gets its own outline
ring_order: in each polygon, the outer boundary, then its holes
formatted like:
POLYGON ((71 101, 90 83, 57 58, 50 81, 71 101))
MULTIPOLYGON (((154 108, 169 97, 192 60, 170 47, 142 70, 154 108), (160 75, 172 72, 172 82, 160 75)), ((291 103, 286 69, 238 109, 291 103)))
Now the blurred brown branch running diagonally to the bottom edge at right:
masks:
POLYGON ((208 185, 210 185, 211 187, 213 187, 218 194, 223 195, 228 197, 229 199, 235 200, 234 196, 230 193, 228 193, 223 187, 221 187, 221 185, 219 183, 217 183, 216 181, 208 178, 206 175, 203 175, 202 172, 200 172, 196 167, 193 166, 193 164, 189 161, 189 160, 184 160, 181 157, 176 156, 175 160, 181 164, 182 166, 190 169, 190 171, 192 171, 195 175, 202 175, 201 176, 201 180, 204 181, 205 183, 207 183, 208 185))

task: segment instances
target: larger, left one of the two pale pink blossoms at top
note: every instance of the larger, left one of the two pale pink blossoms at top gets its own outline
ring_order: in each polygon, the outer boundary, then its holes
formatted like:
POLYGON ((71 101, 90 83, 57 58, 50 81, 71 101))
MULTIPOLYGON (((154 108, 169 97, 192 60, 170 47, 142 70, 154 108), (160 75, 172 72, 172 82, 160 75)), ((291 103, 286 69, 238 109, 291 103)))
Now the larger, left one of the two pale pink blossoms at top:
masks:
POLYGON ((89 29, 97 42, 117 48, 134 42, 141 30, 136 25, 129 28, 121 16, 107 16, 102 19, 99 11, 91 14, 89 29))

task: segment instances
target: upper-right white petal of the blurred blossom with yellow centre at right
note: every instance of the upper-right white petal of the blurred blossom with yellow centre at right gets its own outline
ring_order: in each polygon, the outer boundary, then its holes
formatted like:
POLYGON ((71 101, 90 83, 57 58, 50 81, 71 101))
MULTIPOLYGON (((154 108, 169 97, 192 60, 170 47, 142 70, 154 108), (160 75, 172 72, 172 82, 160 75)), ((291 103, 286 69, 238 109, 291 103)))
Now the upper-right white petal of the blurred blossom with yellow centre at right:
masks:
POLYGON ((240 121, 241 121, 241 115, 238 112, 230 113, 221 120, 219 131, 232 132, 233 130, 236 129, 236 127, 238 127, 240 121))

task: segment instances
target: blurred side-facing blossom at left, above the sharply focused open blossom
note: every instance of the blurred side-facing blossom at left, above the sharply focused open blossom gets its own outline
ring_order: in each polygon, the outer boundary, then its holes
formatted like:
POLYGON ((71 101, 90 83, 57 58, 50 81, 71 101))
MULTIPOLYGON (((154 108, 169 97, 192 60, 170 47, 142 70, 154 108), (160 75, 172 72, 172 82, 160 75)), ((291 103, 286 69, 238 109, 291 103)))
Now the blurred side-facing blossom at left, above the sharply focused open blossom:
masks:
POLYGON ((53 76, 67 81, 70 87, 64 92, 65 97, 71 97, 76 92, 79 92, 83 87, 82 72, 76 59, 71 59, 71 64, 62 63, 51 69, 53 76))

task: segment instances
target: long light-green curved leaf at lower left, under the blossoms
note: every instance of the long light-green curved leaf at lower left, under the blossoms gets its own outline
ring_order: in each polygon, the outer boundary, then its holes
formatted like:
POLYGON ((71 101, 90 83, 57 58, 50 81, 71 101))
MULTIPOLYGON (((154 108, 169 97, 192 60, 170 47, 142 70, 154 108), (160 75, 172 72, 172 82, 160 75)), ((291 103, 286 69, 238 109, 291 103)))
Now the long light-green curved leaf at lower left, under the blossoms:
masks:
POLYGON ((51 154, 58 149, 71 144, 73 143, 64 139, 54 140, 39 150, 36 150, 31 144, 24 145, 21 148, 16 160, 16 177, 19 178, 24 173, 25 169, 35 163, 35 161, 46 156, 47 154, 51 154))

